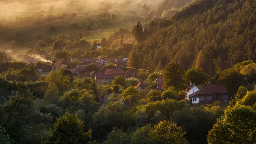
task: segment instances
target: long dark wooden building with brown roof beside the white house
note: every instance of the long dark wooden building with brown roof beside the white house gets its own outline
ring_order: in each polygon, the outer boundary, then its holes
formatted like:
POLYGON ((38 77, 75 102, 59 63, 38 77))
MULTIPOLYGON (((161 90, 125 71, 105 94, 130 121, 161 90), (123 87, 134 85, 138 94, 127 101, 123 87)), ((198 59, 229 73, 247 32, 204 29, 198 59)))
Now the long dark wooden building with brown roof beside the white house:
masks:
POLYGON ((221 85, 205 85, 189 95, 192 104, 207 101, 230 100, 228 91, 221 85))

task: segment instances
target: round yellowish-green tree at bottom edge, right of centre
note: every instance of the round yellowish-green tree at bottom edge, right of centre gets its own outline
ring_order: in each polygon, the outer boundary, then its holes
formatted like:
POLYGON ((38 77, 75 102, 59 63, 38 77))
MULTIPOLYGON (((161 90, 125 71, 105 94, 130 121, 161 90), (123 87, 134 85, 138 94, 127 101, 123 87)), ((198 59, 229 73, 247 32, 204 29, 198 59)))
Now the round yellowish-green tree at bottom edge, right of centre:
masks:
POLYGON ((152 138, 157 143, 188 144, 188 141, 184 138, 185 134, 180 126, 171 121, 164 120, 155 125, 152 138))

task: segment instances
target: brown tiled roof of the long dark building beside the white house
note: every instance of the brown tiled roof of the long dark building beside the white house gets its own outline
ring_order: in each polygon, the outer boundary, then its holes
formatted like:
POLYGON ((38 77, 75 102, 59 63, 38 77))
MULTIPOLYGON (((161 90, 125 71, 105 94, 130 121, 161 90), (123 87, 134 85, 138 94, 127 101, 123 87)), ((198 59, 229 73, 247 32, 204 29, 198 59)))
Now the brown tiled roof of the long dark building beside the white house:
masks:
POLYGON ((228 94, 228 91, 221 85, 204 85, 197 92, 189 95, 189 97, 197 94, 228 94))

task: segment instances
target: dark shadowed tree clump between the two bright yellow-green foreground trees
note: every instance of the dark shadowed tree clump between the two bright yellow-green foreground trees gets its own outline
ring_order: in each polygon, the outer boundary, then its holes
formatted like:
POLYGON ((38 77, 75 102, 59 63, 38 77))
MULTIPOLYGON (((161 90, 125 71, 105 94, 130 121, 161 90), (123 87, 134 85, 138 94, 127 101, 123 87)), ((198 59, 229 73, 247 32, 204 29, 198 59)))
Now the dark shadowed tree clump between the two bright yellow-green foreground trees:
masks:
POLYGON ((207 144, 207 133, 211 130, 216 118, 222 114, 223 110, 220 106, 200 106, 175 111, 171 115, 171 120, 187 132, 185 138, 189 142, 207 144))

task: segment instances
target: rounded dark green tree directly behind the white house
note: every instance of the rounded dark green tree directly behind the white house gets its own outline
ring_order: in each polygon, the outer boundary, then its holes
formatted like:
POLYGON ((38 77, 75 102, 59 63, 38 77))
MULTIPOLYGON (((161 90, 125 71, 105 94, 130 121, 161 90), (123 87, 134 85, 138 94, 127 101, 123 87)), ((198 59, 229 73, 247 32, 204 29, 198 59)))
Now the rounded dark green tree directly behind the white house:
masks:
POLYGON ((186 84, 192 82, 192 84, 200 85, 207 83, 207 74, 204 73, 202 68, 188 69, 184 74, 186 84))

